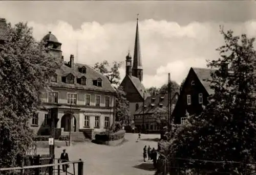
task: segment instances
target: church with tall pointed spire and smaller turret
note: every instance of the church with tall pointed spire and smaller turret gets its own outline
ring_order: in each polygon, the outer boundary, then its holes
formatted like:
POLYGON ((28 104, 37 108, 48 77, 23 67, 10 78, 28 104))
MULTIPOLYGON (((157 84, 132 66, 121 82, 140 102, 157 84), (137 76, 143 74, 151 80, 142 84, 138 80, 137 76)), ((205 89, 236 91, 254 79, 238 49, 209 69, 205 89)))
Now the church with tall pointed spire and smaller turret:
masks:
MULTIPOLYGON (((126 99, 129 101, 129 111, 131 117, 134 119, 134 114, 139 106, 143 105, 144 99, 150 96, 142 84, 143 68, 141 61, 140 41, 139 41, 139 24, 137 18, 134 57, 132 64, 132 57, 130 53, 126 56, 126 71, 125 77, 120 86, 123 87, 126 93, 126 99)), ((136 123, 135 123, 136 124, 136 123)))

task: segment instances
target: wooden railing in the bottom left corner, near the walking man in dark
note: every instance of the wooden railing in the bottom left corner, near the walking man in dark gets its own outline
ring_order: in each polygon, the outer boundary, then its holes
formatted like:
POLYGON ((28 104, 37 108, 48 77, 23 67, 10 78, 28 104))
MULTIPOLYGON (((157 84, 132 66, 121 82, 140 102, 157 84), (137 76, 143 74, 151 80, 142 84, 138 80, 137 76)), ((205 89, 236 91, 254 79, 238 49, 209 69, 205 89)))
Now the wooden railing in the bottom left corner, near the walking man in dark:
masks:
MULTIPOLYGON (((20 174, 23 175, 26 170, 28 169, 35 169, 35 175, 39 175, 40 169, 46 168, 49 169, 48 173, 49 175, 53 174, 53 170, 57 170, 57 174, 60 175, 60 165, 67 165, 67 164, 73 164, 73 173, 67 172, 66 174, 76 175, 75 171, 75 164, 77 164, 77 175, 83 175, 83 161, 79 159, 78 161, 70 161, 70 162, 63 162, 60 163, 60 160, 58 160, 58 163, 53 164, 46 164, 46 165, 33 165, 33 166, 24 166, 24 167, 11 167, 11 168, 0 168, 0 174, 3 171, 20 171, 20 174), (55 169, 54 167, 57 166, 58 168, 55 169)), ((27 173, 25 173, 27 174, 27 173)))

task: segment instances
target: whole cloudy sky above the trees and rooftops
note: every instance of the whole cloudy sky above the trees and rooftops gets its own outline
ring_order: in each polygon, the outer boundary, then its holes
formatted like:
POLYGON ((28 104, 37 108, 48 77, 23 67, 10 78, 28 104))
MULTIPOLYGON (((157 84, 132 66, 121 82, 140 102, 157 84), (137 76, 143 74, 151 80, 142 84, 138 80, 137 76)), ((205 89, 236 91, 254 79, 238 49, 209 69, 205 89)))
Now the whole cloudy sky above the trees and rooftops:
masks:
POLYGON ((206 68, 218 59, 224 40, 219 26, 256 37, 255 1, 1 1, 0 17, 12 24, 27 21, 37 40, 49 31, 62 43, 65 61, 122 61, 133 56, 136 18, 146 88, 178 84, 190 67, 206 68))

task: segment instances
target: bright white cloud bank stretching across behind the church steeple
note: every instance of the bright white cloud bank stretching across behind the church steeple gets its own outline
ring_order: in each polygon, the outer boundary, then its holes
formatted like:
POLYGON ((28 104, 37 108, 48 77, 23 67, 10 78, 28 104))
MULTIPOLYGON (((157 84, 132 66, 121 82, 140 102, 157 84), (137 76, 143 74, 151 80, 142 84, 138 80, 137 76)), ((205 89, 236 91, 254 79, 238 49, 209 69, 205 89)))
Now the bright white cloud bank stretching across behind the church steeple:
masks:
MULTIPOLYGON (((181 26, 177 22, 147 19, 139 22, 143 84, 160 87, 171 79, 181 83, 190 67, 206 67, 206 59, 218 58, 216 48, 223 44, 219 25, 235 34, 256 35, 256 21, 243 23, 190 22, 181 26)), ((70 54, 79 63, 93 65, 103 60, 123 61, 121 78, 125 75, 125 56, 130 48, 133 54, 136 22, 105 23, 84 22, 75 30, 69 23, 51 24, 29 22, 33 35, 40 40, 51 31, 62 43, 62 52, 68 61, 70 54)))

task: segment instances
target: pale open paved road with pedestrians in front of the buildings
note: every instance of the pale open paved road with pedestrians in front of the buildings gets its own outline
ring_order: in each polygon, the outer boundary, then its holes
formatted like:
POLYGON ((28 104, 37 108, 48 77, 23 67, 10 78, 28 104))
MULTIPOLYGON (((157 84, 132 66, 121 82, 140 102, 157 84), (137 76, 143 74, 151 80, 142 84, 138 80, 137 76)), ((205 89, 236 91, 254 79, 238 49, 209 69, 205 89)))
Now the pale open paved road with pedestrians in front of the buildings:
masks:
MULTIPOLYGON (((159 138, 160 135, 141 135, 136 142, 138 134, 125 134, 125 143, 119 146, 106 146, 86 142, 66 147, 70 161, 84 161, 84 174, 87 175, 150 175, 154 174, 153 163, 143 162, 142 152, 144 145, 157 148, 157 142, 143 139, 159 138)), ((63 148, 56 148, 55 155, 60 155, 63 148)), ((38 150, 39 151, 39 150, 38 150)), ((42 150, 41 150, 42 151, 42 150)), ((40 151, 39 151, 40 152, 40 151)), ((73 172, 73 165, 69 171, 73 172)), ((62 173, 61 173, 62 174, 62 173)))

